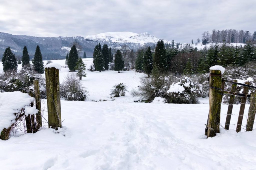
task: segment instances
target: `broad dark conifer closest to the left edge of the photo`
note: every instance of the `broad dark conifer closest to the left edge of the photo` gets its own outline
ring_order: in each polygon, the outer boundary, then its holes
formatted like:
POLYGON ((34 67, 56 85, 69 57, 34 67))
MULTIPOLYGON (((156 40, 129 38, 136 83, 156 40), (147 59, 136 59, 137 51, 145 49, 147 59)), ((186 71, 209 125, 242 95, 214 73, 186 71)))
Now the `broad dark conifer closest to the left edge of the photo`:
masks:
POLYGON ((7 72, 9 70, 17 71, 17 68, 18 68, 17 59, 15 58, 15 55, 12 53, 12 50, 10 47, 5 49, 5 52, 2 58, 2 63, 3 63, 4 72, 7 72))

